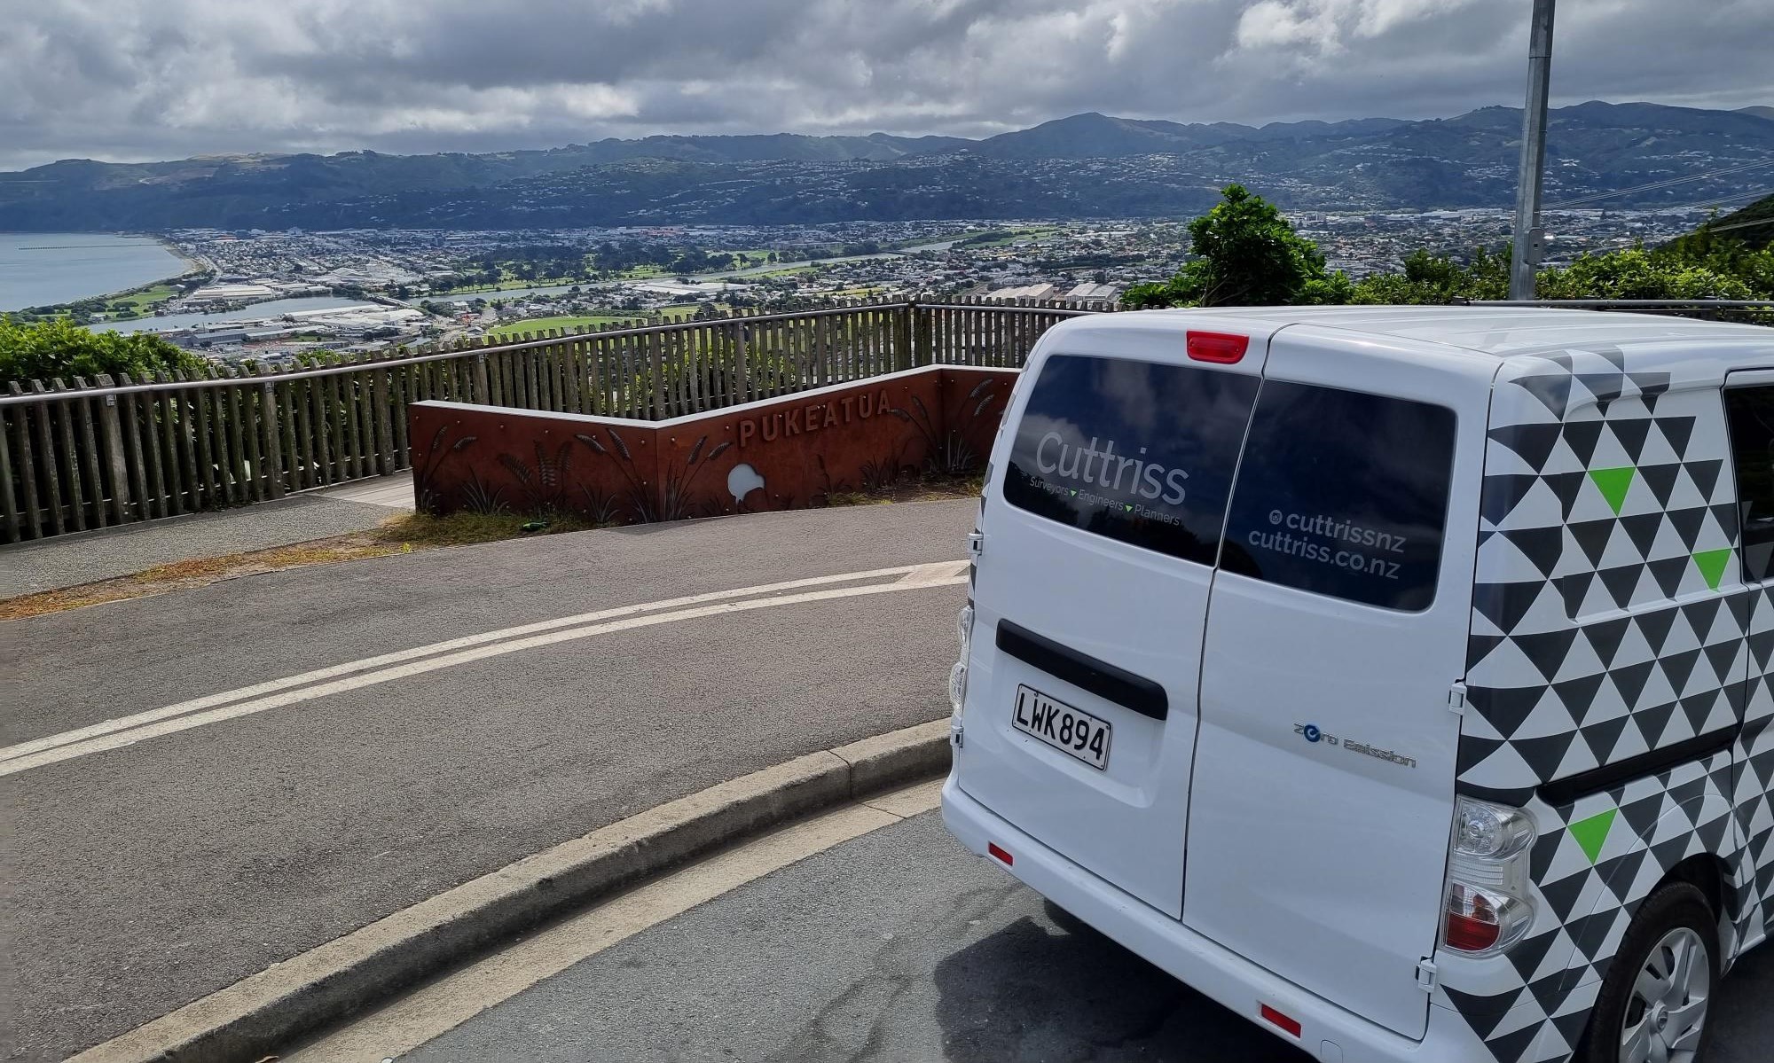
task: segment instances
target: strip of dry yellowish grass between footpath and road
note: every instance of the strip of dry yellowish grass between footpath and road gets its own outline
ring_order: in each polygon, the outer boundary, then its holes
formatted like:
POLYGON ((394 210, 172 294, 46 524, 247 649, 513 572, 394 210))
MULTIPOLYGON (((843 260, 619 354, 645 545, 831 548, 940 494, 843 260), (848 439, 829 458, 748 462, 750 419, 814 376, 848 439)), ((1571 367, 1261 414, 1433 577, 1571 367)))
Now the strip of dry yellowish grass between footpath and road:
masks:
POLYGON ((334 535, 332 539, 316 539, 312 542, 296 542, 216 558, 193 558, 190 562, 154 565, 144 572, 117 576, 115 579, 0 599, 0 620, 23 620, 25 617, 60 613, 82 606, 206 586, 220 579, 232 579, 234 576, 381 558, 394 553, 415 553, 442 546, 495 542, 522 535, 585 532, 589 528, 594 528, 594 524, 571 516, 451 514, 447 517, 433 517, 429 514, 401 514, 369 532, 353 532, 349 535, 334 535))

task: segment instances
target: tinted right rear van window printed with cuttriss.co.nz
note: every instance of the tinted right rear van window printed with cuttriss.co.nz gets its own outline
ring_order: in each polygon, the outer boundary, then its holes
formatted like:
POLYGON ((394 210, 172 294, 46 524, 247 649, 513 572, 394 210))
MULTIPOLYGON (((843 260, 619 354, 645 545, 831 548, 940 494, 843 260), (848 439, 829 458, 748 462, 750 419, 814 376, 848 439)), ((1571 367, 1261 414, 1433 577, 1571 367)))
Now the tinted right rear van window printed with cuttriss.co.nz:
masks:
POLYGON ((1444 406, 1267 381, 1221 567, 1417 611, 1435 601, 1455 415, 1444 406))

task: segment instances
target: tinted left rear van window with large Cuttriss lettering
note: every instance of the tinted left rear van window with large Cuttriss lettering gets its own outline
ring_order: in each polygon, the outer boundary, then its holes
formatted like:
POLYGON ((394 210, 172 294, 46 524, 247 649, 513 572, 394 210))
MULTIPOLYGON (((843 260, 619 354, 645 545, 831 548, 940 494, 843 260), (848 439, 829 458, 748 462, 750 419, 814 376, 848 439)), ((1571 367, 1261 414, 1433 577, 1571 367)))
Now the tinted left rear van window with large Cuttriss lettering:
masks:
POLYGON ((1004 500, 1212 565, 1256 384, 1192 365, 1056 354, 1017 425, 1004 500))

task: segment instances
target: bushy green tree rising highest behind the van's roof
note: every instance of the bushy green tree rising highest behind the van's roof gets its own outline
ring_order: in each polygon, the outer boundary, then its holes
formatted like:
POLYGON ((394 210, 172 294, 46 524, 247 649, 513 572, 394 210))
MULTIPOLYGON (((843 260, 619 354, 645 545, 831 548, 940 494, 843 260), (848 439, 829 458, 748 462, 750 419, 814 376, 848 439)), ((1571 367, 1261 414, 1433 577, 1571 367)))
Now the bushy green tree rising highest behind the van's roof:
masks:
POLYGON ((1274 204, 1242 184, 1221 190, 1221 202, 1189 223, 1196 255, 1171 280, 1139 283, 1121 296, 1150 306, 1279 306, 1346 303, 1348 278, 1325 269, 1318 244, 1293 232, 1274 204))

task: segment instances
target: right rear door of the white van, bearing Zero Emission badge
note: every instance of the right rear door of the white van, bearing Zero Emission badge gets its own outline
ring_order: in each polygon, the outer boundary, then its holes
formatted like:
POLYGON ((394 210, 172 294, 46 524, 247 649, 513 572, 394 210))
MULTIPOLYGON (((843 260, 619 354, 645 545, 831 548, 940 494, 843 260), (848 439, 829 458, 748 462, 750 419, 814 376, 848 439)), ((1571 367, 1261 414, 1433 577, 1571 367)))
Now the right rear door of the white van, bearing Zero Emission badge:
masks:
POLYGON ((1417 1038, 1497 363, 1346 335, 1270 344, 1208 611, 1183 923, 1417 1038))

